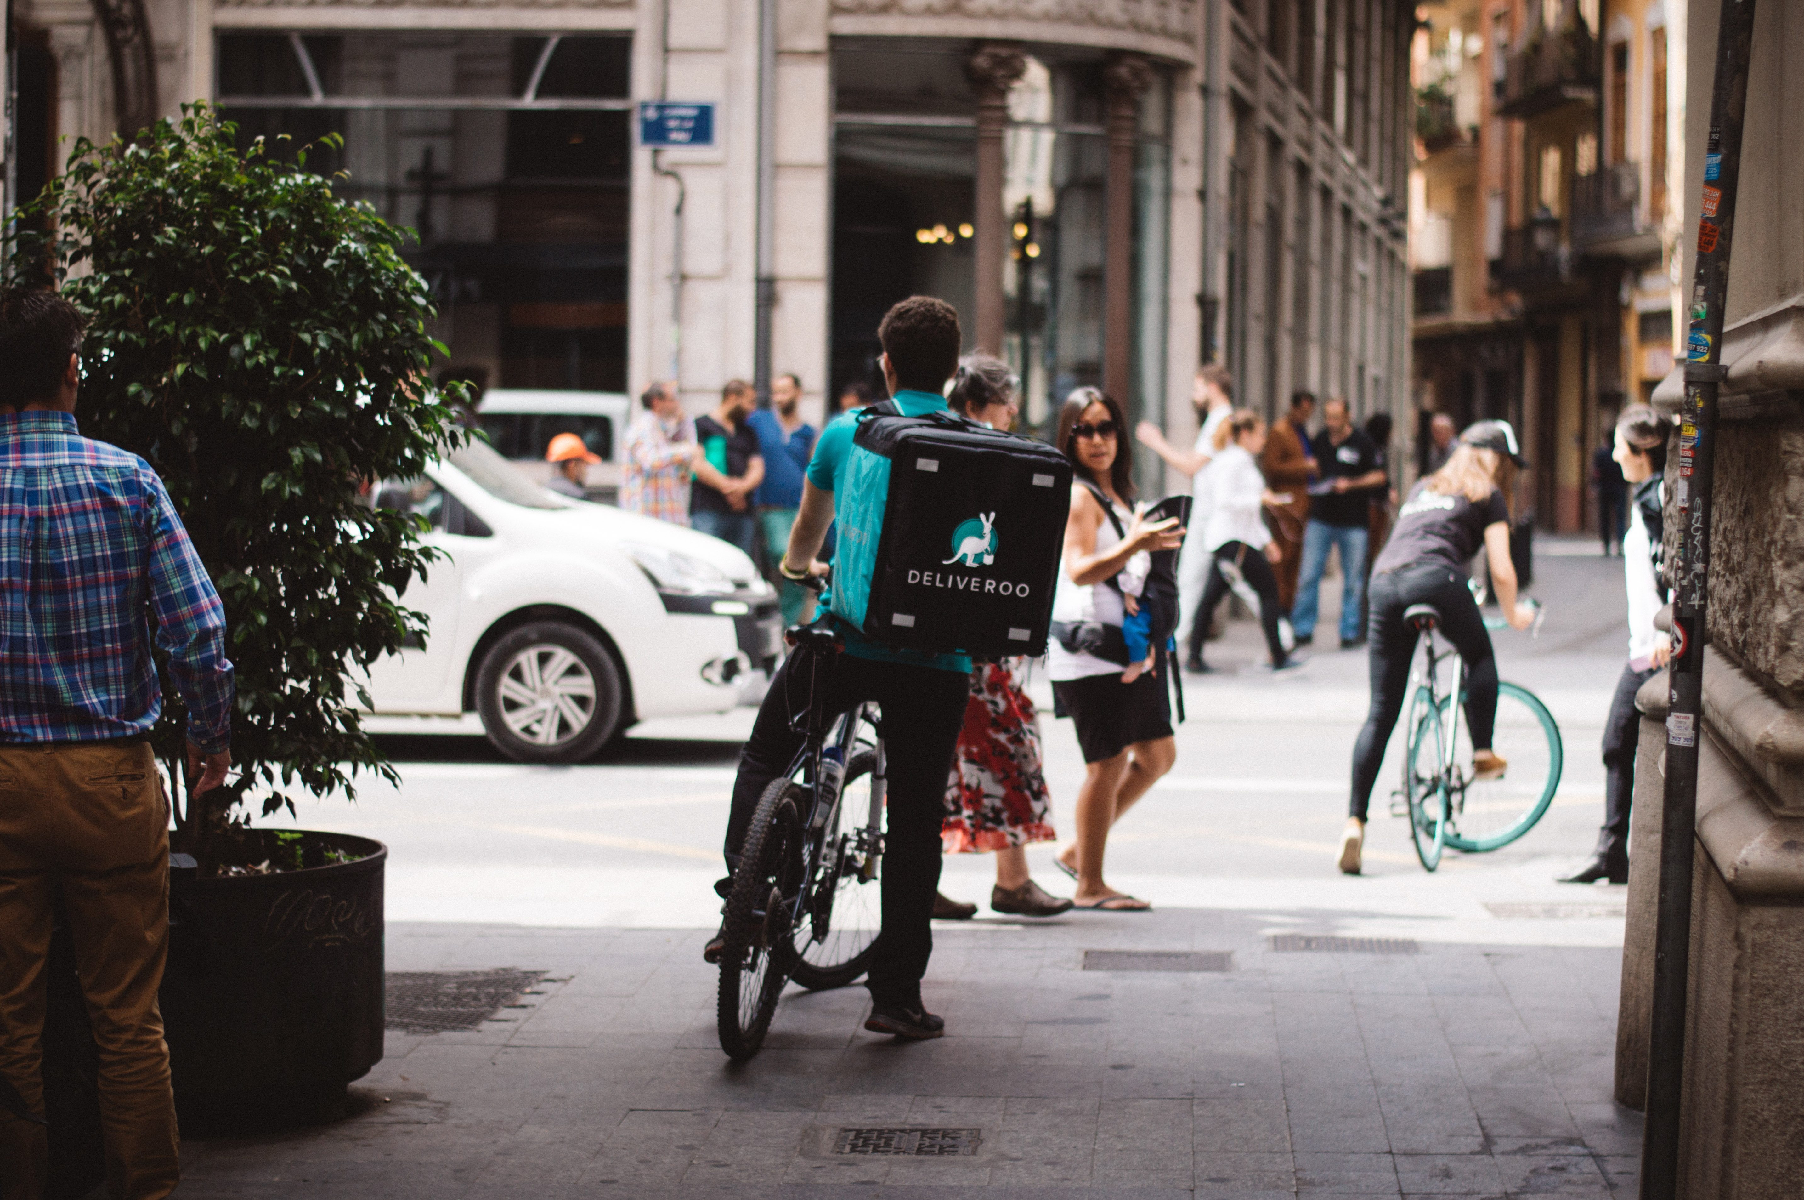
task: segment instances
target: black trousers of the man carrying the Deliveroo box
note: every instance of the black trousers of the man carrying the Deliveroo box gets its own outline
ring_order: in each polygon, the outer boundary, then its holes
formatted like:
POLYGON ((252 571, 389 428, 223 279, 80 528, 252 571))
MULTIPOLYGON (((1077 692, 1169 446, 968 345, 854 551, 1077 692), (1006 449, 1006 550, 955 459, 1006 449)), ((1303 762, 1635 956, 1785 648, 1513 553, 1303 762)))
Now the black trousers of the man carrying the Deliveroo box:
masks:
MULTIPOLYGON (((758 798, 788 772, 803 736, 790 731, 790 713, 808 704, 806 655, 790 655, 770 680, 758 707, 752 736, 740 751, 740 778, 732 785, 727 819, 727 870, 740 861, 758 798), (801 669, 794 669, 794 668, 801 669), (794 673, 794 682, 790 675, 794 673)), ((888 834, 884 835, 884 931, 871 962, 871 998, 877 1003, 920 1007, 920 978, 933 955, 933 895, 940 888, 940 825, 945 819, 945 781, 953 751, 965 724, 969 678, 956 671, 833 655, 823 671, 826 709, 844 713, 875 700, 882 707, 884 751, 889 769, 888 834)))

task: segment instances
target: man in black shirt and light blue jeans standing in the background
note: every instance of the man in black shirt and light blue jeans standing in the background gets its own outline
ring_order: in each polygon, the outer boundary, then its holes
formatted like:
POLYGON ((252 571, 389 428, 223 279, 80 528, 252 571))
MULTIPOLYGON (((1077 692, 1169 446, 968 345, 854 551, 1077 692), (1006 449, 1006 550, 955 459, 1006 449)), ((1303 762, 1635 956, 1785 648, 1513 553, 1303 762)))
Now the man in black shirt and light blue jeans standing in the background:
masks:
POLYGON ((1364 431, 1353 426, 1353 413, 1342 397, 1322 404, 1322 431, 1312 444, 1317 482, 1310 485, 1310 523, 1302 529, 1302 577, 1290 623, 1297 644, 1315 641, 1315 615, 1321 603, 1322 570, 1328 550, 1340 554, 1340 650, 1358 646, 1366 601, 1366 538, 1371 522, 1371 493, 1384 487, 1378 451, 1364 431))

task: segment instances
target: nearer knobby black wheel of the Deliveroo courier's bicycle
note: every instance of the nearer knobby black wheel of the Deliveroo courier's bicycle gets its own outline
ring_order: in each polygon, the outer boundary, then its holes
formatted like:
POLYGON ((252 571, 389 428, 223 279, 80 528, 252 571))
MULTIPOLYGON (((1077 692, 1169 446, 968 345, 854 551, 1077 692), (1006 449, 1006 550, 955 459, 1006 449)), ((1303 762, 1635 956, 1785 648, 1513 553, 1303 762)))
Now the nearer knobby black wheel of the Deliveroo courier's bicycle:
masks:
POLYGON ((776 780, 765 789, 745 834, 740 870, 727 897, 720 953, 720 1048, 736 1063, 758 1054, 794 967, 788 900, 801 884, 797 789, 776 780))

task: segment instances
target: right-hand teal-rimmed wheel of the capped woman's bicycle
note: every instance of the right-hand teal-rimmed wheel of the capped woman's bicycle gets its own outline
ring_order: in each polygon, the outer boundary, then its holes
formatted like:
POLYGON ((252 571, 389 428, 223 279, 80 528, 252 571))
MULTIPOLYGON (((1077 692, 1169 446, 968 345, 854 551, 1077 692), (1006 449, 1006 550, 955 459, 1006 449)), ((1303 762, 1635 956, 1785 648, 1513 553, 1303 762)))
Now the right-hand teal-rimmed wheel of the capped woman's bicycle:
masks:
POLYGON ((1454 754, 1452 821, 1447 845, 1454 850, 1496 850, 1535 826, 1560 787, 1564 749, 1535 693, 1515 684, 1497 688, 1497 731, 1492 751, 1510 763, 1501 780, 1472 780, 1472 734, 1459 724, 1454 754))

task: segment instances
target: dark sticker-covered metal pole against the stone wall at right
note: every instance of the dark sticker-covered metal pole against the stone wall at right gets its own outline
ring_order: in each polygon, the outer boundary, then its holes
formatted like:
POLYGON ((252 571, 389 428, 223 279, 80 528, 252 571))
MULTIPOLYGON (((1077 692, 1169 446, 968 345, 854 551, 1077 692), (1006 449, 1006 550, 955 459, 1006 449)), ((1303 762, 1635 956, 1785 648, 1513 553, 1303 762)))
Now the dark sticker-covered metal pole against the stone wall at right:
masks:
POLYGON ((1647 1054, 1642 1200, 1672 1200, 1680 1184, 1685 1094, 1685 1003, 1690 983, 1692 863, 1698 828, 1698 740, 1703 736, 1703 646, 1710 599, 1710 480, 1716 393, 1726 374, 1723 301, 1748 106, 1755 0, 1723 0, 1710 88, 1710 144, 1698 217, 1698 262, 1687 303, 1685 408, 1680 411, 1680 556, 1672 572, 1672 664, 1667 790, 1660 819, 1660 900, 1654 924, 1654 1003, 1647 1054))

